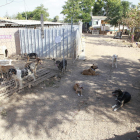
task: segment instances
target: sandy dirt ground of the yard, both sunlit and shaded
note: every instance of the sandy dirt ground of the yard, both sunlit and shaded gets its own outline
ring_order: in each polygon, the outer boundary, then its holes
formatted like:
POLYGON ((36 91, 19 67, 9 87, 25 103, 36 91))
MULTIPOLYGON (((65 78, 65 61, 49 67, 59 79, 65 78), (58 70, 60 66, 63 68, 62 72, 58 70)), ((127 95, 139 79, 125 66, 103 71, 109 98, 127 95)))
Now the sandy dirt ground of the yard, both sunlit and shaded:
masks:
MULTIPOLYGON (((68 60, 68 71, 22 93, 0 100, 0 140, 136 140, 140 129, 140 48, 113 36, 85 34, 86 60, 68 60), (118 54, 118 68, 111 57, 118 54), (97 64, 99 76, 81 75, 97 64), (73 90, 83 85, 83 96, 73 90), (114 112, 112 91, 132 100, 114 112)), ((14 63, 14 62, 13 62, 14 63)), ((47 67, 56 69, 51 60, 47 67)))

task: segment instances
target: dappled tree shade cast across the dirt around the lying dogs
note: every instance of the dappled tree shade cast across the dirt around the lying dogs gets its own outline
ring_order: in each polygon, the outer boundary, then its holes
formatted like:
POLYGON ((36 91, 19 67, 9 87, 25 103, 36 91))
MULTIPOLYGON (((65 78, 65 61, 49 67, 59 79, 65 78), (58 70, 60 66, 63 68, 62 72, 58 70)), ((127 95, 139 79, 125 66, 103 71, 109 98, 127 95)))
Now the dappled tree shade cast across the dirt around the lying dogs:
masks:
MULTIPOLYGON (((118 68, 112 68, 110 61, 110 56, 102 56, 96 61, 78 60, 74 64, 69 62, 69 71, 63 76, 58 88, 45 87, 42 83, 31 90, 27 89, 17 96, 10 97, 6 108, 7 115, 1 117, 3 133, 8 131, 13 137, 17 132, 19 135, 26 133, 30 138, 32 136, 37 138, 42 134, 50 138, 61 133, 67 138, 73 129, 71 125, 78 125, 81 120, 83 123, 111 122, 122 126, 126 123, 139 124, 139 63, 120 58, 118 68), (98 64, 97 72, 100 75, 81 75, 81 71, 88 69, 93 63, 98 64), (83 97, 75 94, 73 90, 75 82, 83 84, 85 88, 83 97), (132 100, 118 112, 113 112, 111 106, 115 104, 115 98, 111 93, 116 88, 130 92, 132 100)), ((117 140, 124 140, 129 136, 131 133, 117 136, 117 140)))

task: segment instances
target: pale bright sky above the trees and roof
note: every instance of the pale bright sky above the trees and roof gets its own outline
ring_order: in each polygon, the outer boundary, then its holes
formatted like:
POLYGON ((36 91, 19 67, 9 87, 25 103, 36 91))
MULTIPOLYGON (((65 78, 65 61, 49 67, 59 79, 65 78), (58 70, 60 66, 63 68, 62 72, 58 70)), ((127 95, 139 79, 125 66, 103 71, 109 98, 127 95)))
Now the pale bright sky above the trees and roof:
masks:
MULTIPOLYGON (((37 6, 43 4, 48 9, 49 18, 59 16, 63 19, 62 6, 67 0, 0 0, 0 17, 4 17, 6 13, 9 16, 16 15, 18 12, 33 11, 37 6)), ((140 0, 127 0, 134 5, 138 5, 140 0)))

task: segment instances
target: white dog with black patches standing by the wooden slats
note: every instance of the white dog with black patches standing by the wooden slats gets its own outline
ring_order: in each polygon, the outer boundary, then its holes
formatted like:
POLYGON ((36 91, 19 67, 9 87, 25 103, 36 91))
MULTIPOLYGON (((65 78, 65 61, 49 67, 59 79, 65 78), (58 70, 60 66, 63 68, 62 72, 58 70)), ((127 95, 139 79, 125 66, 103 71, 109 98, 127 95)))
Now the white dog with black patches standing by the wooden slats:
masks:
POLYGON ((21 89, 23 87, 23 78, 27 78, 28 76, 31 76, 34 81, 35 75, 34 73, 29 69, 29 68, 24 68, 22 70, 17 70, 17 69, 9 69, 9 75, 15 80, 16 83, 16 88, 18 87, 18 82, 19 82, 19 88, 21 89))

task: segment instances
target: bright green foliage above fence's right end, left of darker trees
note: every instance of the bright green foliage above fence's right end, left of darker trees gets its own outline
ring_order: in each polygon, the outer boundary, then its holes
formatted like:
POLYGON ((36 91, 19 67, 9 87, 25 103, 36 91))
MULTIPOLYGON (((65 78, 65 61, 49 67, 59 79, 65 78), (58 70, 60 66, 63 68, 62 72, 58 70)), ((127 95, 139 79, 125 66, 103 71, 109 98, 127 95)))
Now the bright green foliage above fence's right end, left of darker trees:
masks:
POLYGON ((65 15, 65 22, 91 21, 91 11, 95 0, 68 0, 63 6, 61 14, 65 15))

